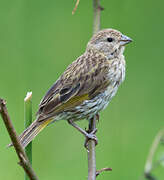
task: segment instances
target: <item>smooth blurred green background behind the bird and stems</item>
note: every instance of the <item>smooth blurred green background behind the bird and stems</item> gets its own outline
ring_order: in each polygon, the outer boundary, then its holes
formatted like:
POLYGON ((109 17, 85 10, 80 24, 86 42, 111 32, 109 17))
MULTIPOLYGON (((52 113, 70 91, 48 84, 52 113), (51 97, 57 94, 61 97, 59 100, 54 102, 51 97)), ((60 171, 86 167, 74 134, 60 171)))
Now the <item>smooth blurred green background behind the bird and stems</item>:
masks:
MULTIPOLYGON (((92 0, 0 1, 0 97, 18 133, 24 129, 24 97, 33 92, 33 116, 60 74, 85 51, 92 36, 92 0)), ((102 0, 102 28, 115 28, 134 42, 126 48, 126 80, 98 124, 98 179, 138 180, 152 140, 164 121, 164 2, 102 0)), ((82 127, 87 122, 79 122, 82 127)), ((22 180, 13 148, 0 121, 0 179, 22 180)), ((41 180, 87 177, 84 138, 65 121, 46 128, 33 143, 33 167, 41 180)), ((164 171, 154 172, 159 179, 164 171)))

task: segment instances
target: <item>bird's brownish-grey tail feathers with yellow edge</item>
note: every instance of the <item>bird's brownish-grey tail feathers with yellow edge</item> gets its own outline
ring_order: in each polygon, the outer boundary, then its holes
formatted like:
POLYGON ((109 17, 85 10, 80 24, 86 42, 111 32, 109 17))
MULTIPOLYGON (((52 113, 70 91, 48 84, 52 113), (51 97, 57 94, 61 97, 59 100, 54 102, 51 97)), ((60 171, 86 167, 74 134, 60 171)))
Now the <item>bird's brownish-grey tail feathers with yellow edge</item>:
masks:
MULTIPOLYGON (((39 122, 36 119, 27 129, 25 129, 19 136, 23 148, 25 148, 51 121, 52 119, 47 119, 39 122)), ((9 144, 8 146, 10 147, 12 144, 9 144)))

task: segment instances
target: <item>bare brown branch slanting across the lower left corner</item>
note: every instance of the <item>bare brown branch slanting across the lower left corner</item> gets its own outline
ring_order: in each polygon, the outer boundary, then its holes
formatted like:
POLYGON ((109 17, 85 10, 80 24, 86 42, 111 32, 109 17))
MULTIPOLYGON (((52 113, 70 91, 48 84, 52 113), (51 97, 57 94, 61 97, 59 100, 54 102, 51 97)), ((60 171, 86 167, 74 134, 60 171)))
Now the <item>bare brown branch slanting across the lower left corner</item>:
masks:
POLYGON ((34 170, 31 167, 31 164, 24 152, 24 149, 22 148, 18 136, 16 134, 16 131, 14 129, 14 126, 11 122, 11 119, 9 117, 7 108, 6 108, 6 102, 3 99, 0 99, 0 114, 2 116, 2 119, 5 123, 6 129, 10 135, 12 144, 15 148, 15 151, 18 155, 18 158, 20 160, 19 164, 23 167, 24 171, 29 176, 30 180, 38 180, 34 170))

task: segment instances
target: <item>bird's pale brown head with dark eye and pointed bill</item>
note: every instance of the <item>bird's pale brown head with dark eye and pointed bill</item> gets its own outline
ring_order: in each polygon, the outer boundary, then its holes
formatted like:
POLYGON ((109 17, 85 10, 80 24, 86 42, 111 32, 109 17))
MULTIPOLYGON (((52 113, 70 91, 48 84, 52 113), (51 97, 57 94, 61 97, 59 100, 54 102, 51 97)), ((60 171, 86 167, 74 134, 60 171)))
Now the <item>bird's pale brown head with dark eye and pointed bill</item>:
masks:
POLYGON ((87 45, 87 49, 97 50, 107 56, 108 59, 123 54, 124 46, 132 41, 114 29, 104 29, 93 35, 87 45))

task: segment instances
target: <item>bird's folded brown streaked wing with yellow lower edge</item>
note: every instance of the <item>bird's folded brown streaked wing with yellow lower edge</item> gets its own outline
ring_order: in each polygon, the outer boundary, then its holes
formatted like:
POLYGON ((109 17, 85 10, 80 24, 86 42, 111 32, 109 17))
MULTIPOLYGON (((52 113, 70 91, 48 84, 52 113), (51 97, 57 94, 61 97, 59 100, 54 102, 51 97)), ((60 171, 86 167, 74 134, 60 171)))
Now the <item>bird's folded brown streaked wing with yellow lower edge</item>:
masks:
POLYGON ((95 57, 81 56, 74 61, 50 88, 39 105, 40 119, 53 117, 85 100, 94 98, 109 85, 109 64, 95 57), (86 59, 85 59, 86 58, 86 59))

